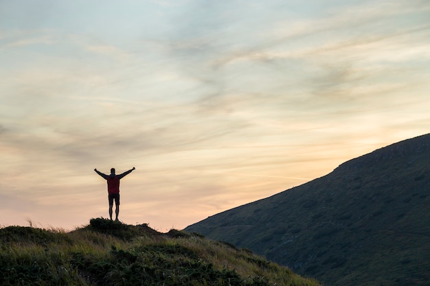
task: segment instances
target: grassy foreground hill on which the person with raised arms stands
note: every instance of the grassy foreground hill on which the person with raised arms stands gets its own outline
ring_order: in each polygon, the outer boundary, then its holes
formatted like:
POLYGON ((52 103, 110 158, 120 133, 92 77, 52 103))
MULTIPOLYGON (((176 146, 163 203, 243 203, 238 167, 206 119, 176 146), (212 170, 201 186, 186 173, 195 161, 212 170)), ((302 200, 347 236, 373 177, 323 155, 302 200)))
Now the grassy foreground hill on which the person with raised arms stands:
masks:
POLYGON ((0 273, 0 285, 319 285, 228 243, 107 219, 0 228, 0 273))

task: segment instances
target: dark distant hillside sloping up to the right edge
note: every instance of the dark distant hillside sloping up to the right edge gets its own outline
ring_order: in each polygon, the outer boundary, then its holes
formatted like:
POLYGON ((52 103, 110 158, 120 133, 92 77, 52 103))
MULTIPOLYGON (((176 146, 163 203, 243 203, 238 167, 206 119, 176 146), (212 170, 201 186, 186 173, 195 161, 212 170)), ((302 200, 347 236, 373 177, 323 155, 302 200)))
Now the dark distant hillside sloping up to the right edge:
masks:
POLYGON ((335 285, 430 285, 430 134, 185 230, 335 285))

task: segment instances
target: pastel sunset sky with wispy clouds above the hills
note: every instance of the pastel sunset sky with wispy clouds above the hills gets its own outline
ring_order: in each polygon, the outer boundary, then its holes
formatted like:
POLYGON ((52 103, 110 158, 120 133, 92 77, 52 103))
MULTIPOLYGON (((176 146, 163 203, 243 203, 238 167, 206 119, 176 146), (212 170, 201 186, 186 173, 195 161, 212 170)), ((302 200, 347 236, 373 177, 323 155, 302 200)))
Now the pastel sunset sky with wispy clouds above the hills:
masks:
POLYGON ((0 0, 0 226, 159 231, 429 132, 428 0, 0 0))

